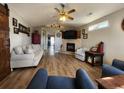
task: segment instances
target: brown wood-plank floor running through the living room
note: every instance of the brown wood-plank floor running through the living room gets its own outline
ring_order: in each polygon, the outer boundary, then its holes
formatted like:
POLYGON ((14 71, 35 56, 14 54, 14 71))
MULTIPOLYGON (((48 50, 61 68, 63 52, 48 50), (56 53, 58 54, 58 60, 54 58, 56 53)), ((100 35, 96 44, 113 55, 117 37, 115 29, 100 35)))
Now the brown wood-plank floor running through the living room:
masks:
POLYGON ((4 80, 0 82, 0 88, 20 89, 26 88, 32 77, 39 68, 45 68, 49 75, 75 77, 76 70, 85 69, 92 80, 101 76, 100 67, 92 67, 85 62, 75 59, 72 55, 56 53, 49 55, 46 53, 36 68, 21 68, 14 70, 4 80))

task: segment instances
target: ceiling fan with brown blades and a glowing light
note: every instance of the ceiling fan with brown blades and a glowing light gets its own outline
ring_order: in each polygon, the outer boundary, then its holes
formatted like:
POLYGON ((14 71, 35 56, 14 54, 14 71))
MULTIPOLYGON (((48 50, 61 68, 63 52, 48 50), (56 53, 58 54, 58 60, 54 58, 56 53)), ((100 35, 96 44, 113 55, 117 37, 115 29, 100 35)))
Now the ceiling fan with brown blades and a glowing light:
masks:
POLYGON ((74 20, 74 18, 71 17, 69 14, 75 12, 76 10, 71 9, 69 11, 66 11, 65 10, 65 5, 64 4, 60 4, 60 5, 61 5, 62 9, 54 8, 58 13, 59 20, 60 21, 65 21, 66 19, 74 20))

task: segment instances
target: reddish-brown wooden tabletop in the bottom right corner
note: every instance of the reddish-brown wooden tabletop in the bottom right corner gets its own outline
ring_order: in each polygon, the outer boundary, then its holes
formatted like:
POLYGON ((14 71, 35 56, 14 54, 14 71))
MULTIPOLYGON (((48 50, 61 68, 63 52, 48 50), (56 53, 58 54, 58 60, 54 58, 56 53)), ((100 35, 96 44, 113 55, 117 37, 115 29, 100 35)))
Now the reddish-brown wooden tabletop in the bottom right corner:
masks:
POLYGON ((124 75, 96 79, 100 89, 124 89, 124 75))

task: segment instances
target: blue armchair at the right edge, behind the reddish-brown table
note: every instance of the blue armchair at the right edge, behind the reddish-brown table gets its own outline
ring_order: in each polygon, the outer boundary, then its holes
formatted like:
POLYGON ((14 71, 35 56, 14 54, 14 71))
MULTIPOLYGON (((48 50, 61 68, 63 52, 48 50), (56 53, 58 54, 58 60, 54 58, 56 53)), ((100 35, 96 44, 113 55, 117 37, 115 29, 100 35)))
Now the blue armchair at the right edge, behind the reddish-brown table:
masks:
POLYGON ((103 64, 102 66, 102 77, 114 76, 124 74, 124 61, 114 59, 112 66, 103 64))

